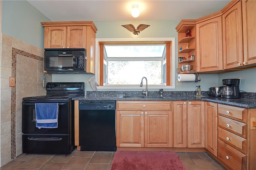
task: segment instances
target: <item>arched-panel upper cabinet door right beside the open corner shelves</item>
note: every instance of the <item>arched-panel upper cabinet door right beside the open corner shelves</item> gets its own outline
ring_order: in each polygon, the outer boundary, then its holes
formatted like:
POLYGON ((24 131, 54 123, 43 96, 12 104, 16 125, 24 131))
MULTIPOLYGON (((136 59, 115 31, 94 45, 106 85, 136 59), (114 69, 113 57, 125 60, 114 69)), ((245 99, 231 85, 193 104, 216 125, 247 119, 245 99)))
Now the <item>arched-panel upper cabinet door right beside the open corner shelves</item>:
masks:
POLYGON ((221 16, 196 24, 198 72, 223 69, 221 16))

